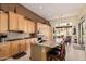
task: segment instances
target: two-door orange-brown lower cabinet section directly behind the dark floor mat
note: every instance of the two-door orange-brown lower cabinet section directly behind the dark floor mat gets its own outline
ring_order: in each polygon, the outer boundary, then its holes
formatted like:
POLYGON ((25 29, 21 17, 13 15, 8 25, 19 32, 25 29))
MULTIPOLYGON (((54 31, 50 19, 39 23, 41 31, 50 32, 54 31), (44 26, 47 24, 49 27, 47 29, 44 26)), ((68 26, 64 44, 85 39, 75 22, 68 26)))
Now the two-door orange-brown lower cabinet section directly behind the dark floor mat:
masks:
POLYGON ((25 40, 15 40, 11 42, 11 55, 26 51, 25 40))

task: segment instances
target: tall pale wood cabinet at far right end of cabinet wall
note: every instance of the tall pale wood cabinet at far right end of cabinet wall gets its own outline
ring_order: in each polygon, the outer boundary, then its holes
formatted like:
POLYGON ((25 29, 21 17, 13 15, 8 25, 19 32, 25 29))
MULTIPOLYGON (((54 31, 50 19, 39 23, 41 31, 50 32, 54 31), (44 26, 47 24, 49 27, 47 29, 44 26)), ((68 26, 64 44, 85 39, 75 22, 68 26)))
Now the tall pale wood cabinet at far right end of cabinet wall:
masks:
POLYGON ((52 29, 51 26, 46 24, 37 23, 37 30, 45 36, 45 39, 51 40, 52 39, 52 29))

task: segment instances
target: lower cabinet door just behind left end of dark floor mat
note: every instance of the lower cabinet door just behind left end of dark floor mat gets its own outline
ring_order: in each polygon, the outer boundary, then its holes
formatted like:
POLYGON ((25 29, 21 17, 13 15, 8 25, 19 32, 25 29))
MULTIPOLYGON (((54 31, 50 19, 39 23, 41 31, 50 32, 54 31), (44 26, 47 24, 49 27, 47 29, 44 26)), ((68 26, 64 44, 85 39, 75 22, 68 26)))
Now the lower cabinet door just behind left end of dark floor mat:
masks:
POLYGON ((11 55, 19 53, 19 41, 11 41, 11 55))

